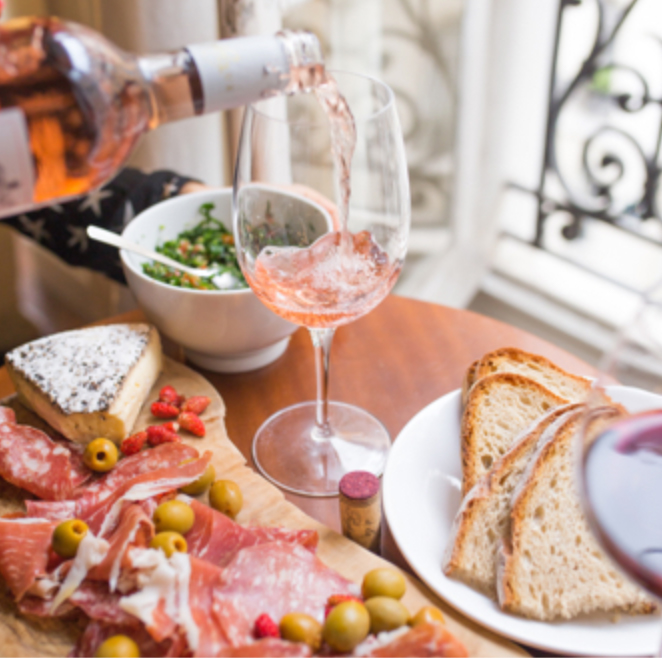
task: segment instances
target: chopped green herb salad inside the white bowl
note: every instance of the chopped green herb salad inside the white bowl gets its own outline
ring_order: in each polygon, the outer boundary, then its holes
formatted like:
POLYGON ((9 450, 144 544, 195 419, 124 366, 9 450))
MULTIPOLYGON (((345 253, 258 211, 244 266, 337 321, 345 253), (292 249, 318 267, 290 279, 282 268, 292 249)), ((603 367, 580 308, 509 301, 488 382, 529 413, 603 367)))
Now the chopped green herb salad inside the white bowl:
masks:
MULTIPOLYGON (((168 240, 156 251, 190 267, 218 267, 218 275, 232 276, 232 288, 246 288, 247 283, 237 263, 234 236, 223 222, 212 217, 213 203, 203 203, 199 212, 203 220, 191 229, 182 231, 174 240, 168 240)), ((157 281, 180 288, 219 290, 211 279, 192 276, 161 263, 143 263, 143 272, 157 281)), ((213 278, 216 278, 213 277, 213 278)))

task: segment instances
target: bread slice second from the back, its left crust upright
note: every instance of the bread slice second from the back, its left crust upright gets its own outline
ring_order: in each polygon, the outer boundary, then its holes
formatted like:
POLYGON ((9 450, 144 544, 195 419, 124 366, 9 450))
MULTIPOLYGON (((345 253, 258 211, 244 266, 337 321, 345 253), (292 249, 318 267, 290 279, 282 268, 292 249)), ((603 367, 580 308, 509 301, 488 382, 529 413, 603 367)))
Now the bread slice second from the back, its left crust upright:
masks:
POLYGON ((462 414, 462 495, 492 468, 517 435, 568 400, 513 373, 478 380, 462 414))

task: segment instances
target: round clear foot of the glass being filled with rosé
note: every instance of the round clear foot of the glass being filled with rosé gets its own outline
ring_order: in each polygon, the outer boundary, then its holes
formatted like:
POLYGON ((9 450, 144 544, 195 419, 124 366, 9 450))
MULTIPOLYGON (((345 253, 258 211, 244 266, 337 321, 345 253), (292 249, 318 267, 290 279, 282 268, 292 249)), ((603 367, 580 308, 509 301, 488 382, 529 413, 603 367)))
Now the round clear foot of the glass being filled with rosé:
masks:
POLYGON ((336 496, 350 471, 384 472, 391 437, 371 414, 329 402, 329 436, 320 436, 316 402, 287 407, 268 418, 253 440, 253 459, 268 480, 303 496, 336 496))

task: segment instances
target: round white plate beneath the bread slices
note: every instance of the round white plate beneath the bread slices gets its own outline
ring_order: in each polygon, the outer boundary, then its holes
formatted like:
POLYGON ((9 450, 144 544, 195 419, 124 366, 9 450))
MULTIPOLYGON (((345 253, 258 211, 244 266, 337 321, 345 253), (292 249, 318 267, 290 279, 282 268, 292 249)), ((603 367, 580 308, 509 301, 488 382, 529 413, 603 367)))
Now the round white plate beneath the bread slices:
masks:
MULTIPOLYGON (((630 411, 662 406, 662 397, 614 386, 612 399, 630 411)), ((391 448, 384 473, 384 511, 393 537, 418 576, 467 617, 518 642, 547 651, 603 656, 651 655, 660 646, 658 615, 607 615, 544 623, 502 612, 496 603, 441 570, 451 524, 460 506, 460 391, 412 418, 391 448)))

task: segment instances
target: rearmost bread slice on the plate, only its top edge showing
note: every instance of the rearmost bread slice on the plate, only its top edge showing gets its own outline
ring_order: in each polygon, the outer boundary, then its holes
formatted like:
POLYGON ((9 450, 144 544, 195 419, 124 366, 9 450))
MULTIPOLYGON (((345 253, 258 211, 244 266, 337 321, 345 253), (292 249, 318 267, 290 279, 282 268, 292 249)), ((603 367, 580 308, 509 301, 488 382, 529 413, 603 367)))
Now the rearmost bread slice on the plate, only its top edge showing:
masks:
POLYGON ((529 354, 516 347, 503 347, 485 354, 474 368, 474 383, 497 372, 514 372, 542 384, 552 393, 569 402, 586 402, 591 382, 571 375, 538 354, 529 354))

